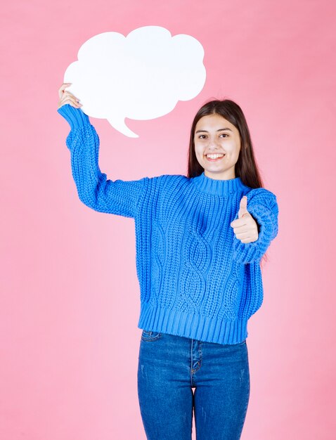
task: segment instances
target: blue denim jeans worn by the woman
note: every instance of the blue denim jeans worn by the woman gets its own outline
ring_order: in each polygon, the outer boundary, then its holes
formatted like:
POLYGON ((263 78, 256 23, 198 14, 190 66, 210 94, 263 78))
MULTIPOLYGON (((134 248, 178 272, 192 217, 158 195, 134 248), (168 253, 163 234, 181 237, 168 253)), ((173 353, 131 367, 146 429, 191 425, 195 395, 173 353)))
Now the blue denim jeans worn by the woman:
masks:
POLYGON ((138 401, 148 440, 190 440, 193 411, 197 440, 240 439, 249 399, 246 339, 215 344, 143 330, 138 401))

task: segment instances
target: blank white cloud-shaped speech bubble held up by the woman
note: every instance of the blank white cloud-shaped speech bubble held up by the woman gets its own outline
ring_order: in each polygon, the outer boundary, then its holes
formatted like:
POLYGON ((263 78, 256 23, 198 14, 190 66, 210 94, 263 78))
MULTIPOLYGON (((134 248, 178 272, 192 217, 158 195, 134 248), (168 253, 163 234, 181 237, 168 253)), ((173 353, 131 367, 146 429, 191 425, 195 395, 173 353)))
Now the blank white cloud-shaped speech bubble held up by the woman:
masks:
POLYGON ((122 134, 137 138, 124 122, 155 119, 171 112, 178 101, 200 93, 206 71, 204 49, 186 34, 172 37, 160 26, 144 26, 127 37, 103 32, 79 48, 78 60, 65 71, 67 88, 86 115, 108 119, 122 134))

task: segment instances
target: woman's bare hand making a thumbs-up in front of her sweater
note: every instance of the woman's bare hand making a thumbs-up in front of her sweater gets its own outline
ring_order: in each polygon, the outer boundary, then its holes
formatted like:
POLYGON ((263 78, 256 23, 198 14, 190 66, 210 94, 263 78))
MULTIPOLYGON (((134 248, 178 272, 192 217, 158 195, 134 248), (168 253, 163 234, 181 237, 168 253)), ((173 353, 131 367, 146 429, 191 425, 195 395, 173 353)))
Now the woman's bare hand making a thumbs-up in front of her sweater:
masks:
POLYGON ((250 243, 258 240, 258 224, 247 211, 247 197, 240 200, 240 207, 238 211, 238 219, 231 221, 231 228, 235 233, 235 237, 242 243, 250 243))

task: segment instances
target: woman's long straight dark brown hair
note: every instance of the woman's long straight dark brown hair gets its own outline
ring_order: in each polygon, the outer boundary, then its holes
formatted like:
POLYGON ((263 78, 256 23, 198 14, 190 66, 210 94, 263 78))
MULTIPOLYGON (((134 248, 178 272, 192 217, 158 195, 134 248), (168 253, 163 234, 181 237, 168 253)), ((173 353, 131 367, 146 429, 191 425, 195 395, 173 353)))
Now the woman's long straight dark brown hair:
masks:
MULTIPOLYGON (((217 114, 228 122, 231 122, 240 134, 240 152, 238 161, 235 164, 235 176, 240 177, 244 185, 250 188, 264 188, 264 184, 259 173, 257 162, 254 157, 254 150, 250 136, 250 130, 247 127, 245 115, 240 106, 231 101, 231 99, 209 101, 202 105, 196 113, 193 124, 191 125, 189 153, 188 153, 188 178, 200 176, 204 168, 198 162, 195 154, 195 127, 201 117, 217 114)), ((266 253, 262 257, 267 261, 266 253)))

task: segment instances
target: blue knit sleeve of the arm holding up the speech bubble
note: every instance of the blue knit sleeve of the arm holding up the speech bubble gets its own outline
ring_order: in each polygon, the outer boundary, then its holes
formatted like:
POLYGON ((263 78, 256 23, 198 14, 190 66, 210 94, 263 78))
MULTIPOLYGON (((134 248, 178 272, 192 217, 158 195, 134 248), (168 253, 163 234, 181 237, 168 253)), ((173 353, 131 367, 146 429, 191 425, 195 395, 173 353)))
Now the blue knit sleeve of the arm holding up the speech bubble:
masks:
POLYGON ((89 117, 81 108, 70 104, 62 105, 57 111, 70 124, 66 145, 71 153, 72 176, 79 199, 98 212, 134 218, 148 177, 135 181, 107 179, 98 166, 99 137, 89 117))

